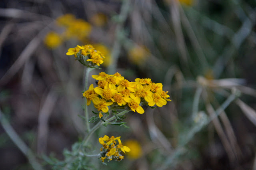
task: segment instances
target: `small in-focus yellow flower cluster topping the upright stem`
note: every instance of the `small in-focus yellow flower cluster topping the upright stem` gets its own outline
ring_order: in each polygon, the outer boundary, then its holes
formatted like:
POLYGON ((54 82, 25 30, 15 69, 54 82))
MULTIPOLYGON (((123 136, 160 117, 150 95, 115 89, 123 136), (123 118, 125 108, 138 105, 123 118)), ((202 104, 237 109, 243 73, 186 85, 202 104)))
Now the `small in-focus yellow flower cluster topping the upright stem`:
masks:
POLYGON ((86 67, 100 66, 104 62, 105 56, 90 44, 77 45, 74 48, 68 49, 66 55, 74 55, 76 60, 85 65, 86 67))

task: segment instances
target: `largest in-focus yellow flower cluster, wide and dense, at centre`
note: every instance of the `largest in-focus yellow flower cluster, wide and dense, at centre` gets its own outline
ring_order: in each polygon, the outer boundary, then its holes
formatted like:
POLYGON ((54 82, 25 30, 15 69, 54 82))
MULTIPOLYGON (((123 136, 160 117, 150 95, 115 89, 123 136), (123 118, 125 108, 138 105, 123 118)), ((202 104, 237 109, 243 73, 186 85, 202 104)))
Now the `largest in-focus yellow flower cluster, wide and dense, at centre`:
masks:
POLYGON ((98 81, 98 87, 90 85, 89 89, 83 93, 87 99, 87 105, 92 103, 100 111, 108 112, 108 106, 112 108, 130 109, 137 113, 144 113, 140 105, 158 106, 166 105, 168 91, 162 90, 162 83, 153 83, 151 79, 137 78, 135 81, 124 79, 118 72, 109 75, 104 72, 99 75, 92 75, 98 81))

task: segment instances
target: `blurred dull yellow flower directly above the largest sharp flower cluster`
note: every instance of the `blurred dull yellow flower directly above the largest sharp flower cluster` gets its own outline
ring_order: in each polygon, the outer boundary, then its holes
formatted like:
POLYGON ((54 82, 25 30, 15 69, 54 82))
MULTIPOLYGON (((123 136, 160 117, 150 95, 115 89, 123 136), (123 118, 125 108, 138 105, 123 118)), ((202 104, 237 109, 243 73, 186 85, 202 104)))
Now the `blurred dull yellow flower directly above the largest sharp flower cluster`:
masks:
POLYGON ((130 51, 128 51, 129 59, 137 65, 144 63, 143 61, 145 61, 148 56, 149 52, 146 47, 142 47, 139 45, 131 48, 130 51))

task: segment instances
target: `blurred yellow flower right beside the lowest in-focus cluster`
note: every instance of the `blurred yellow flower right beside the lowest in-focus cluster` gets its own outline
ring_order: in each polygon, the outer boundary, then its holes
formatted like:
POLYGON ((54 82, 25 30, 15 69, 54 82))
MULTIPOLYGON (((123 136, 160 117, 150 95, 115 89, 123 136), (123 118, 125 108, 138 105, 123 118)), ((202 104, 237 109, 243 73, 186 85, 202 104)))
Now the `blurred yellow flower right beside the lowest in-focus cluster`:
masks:
POLYGON ((130 159, 138 159, 142 156, 142 148, 137 140, 126 140, 124 145, 130 148, 130 152, 127 152, 127 156, 130 159))

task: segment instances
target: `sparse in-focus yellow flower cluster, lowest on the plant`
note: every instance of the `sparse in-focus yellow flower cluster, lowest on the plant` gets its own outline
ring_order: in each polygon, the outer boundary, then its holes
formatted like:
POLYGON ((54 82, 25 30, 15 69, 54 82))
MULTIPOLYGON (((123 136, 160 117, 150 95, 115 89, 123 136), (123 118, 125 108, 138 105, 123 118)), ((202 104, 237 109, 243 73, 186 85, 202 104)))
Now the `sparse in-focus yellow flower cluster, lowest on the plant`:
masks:
POLYGON ((121 136, 115 138, 114 136, 108 137, 105 135, 103 138, 99 138, 99 142, 102 144, 102 147, 100 148, 100 160, 102 162, 104 162, 105 159, 107 159, 108 162, 112 159, 121 161, 124 159, 124 156, 122 156, 120 152, 130 152, 130 148, 122 145, 120 137, 121 136), (118 140, 118 144, 116 140, 118 140))

